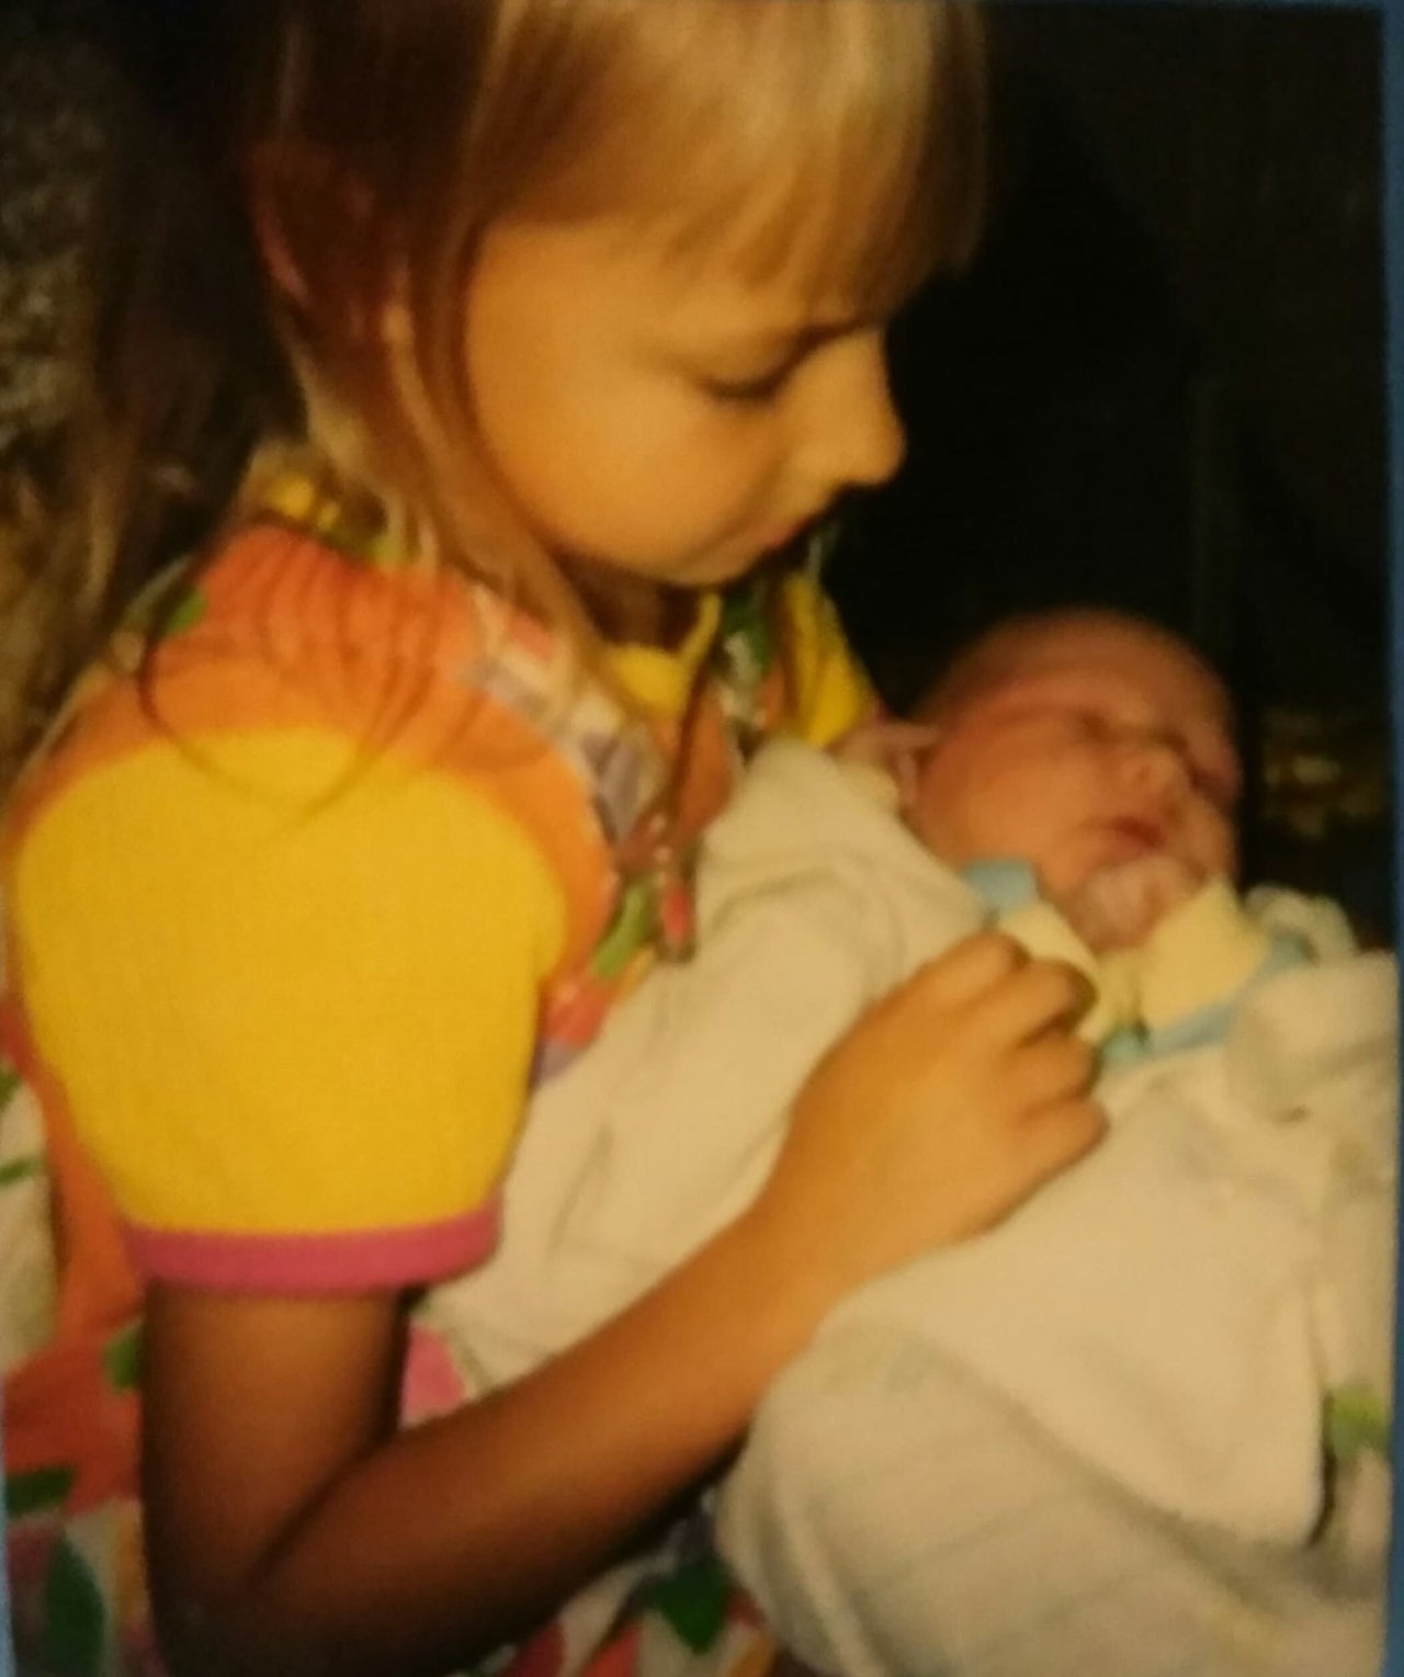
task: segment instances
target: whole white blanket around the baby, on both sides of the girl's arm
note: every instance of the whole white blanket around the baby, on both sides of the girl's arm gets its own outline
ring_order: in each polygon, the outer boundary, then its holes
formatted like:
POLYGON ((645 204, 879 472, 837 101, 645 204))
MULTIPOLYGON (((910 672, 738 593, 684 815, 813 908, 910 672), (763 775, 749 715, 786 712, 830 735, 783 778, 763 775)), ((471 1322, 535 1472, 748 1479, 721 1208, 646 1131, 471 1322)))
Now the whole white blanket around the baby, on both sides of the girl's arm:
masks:
MULTIPOLYGON (((1092 1157, 854 1295, 772 1392, 721 1536, 819 1669, 1374 1677, 1387 1474, 1327 1471, 1323 1410, 1391 1387, 1394 963, 1318 904, 1250 906, 1330 959, 1109 1073, 1092 1157)), ((983 917, 834 763, 768 748, 708 835, 696 958, 540 1097, 500 1253, 434 1298, 480 1382, 735 1216, 817 1058, 983 917)))

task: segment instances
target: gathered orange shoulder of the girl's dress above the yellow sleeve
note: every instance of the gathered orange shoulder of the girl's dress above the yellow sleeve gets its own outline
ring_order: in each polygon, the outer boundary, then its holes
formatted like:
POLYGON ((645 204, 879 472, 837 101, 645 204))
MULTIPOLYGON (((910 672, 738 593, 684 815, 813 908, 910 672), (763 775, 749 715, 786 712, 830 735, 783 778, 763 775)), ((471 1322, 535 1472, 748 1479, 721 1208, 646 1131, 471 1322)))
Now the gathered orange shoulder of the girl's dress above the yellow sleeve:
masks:
POLYGON ((346 773, 384 760, 500 778, 562 731, 560 664, 547 629, 453 570, 369 562, 262 520, 139 602, 17 803, 153 750, 216 763, 235 738, 309 733, 346 773))

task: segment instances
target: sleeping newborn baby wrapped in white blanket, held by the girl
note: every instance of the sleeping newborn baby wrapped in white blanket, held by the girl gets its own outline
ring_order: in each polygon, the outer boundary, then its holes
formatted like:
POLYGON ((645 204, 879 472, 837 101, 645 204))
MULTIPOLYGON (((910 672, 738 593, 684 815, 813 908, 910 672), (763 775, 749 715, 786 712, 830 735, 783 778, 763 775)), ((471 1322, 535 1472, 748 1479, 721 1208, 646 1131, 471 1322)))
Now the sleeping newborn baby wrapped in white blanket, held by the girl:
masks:
POLYGON ((1089 976, 1110 1130, 1005 1226, 842 1306, 721 1501, 820 1670, 1374 1670, 1396 1003, 1344 917, 1233 889, 1221 683, 1132 619, 1023 619, 839 756, 763 751, 698 953, 540 1100, 498 1258, 438 1301, 483 1385, 755 1194, 805 1073, 954 939, 1089 976), (902 817, 894 820, 894 810, 902 817), (1022 1637, 1038 1627, 1038 1640, 1022 1637))

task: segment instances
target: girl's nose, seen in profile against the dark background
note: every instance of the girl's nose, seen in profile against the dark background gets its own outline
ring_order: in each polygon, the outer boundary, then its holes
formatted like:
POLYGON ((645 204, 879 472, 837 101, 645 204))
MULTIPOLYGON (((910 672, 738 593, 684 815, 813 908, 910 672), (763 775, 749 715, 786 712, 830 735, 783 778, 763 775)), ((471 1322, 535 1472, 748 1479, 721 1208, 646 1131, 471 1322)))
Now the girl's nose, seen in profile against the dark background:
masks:
POLYGON ((892 408, 882 334, 874 327, 825 344, 807 369, 797 475, 825 493, 886 483, 906 456, 892 408))

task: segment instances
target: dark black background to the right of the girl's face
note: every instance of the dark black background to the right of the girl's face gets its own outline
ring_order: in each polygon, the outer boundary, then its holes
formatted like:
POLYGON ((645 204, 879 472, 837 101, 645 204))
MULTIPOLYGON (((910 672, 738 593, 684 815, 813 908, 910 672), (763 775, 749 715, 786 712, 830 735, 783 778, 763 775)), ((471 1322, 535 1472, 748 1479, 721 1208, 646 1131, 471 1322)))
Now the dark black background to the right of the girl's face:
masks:
POLYGON ((1188 632, 1240 699, 1248 862, 1389 921, 1379 27, 995 5, 985 248, 897 324, 911 454, 830 580, 909 703, 1008 610, 1188 632))

